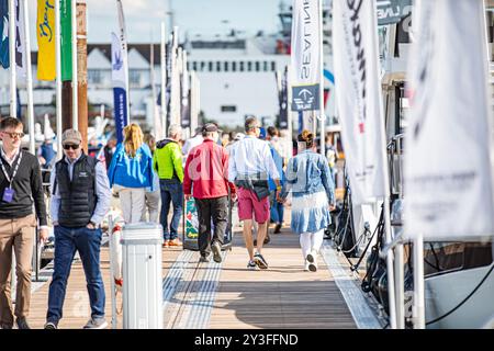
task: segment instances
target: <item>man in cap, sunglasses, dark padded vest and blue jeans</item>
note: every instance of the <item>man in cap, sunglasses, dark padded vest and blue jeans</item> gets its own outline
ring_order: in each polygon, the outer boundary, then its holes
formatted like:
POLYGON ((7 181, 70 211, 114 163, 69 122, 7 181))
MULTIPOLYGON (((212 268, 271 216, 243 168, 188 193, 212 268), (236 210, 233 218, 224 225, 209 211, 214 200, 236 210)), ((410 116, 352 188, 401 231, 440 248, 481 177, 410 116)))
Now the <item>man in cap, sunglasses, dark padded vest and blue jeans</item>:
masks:
POLYGON ((83 328, 104 329, 108 326, 100 270, 100 223, 110 208, 112 193, 104 166, 82 151, 81 141, 78 131, 64 132, 64 158, 52 172, 50 213, 55 227, 55 260, 45 329, 58 328, 76 250, 85 269, 91 305, 91 318, 83 328))

